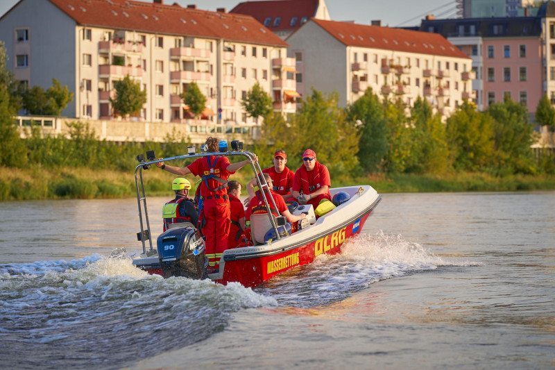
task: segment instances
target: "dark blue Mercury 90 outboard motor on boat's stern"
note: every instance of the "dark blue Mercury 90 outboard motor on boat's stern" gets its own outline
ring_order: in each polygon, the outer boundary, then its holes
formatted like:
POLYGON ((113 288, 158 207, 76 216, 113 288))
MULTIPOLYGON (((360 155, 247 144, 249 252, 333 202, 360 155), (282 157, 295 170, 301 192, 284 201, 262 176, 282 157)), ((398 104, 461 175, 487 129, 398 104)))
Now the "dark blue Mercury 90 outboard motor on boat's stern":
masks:
POLYGON ((206 277, 208 259, 205 258, 204 239, 196 228, 186 226, 166 230, 158 237, 157 247, 164 278, 206 277))

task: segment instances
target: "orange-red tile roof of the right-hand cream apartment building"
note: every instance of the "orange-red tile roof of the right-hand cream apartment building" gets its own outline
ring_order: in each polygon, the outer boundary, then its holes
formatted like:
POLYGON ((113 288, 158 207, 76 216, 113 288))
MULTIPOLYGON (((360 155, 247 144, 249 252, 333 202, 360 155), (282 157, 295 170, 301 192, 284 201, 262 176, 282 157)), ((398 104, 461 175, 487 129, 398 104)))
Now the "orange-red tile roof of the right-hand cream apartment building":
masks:
POLYGON ((409 53, 470 59, 469 56, 438 33, 323 21, 314 18, 310 20, 349 47, 407 51, 409 53))

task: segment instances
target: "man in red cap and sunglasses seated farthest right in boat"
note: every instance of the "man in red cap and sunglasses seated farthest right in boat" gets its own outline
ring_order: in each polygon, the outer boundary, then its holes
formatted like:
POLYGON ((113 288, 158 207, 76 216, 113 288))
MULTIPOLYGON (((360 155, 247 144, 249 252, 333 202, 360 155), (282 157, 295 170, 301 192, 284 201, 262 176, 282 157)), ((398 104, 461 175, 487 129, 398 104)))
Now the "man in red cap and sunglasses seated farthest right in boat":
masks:
POLYGON ((314 209, 322 199, 332 200, 330 171, 316 160, 316 153, 307 149, 302 154, 302 165, 295 172, 291 196, 301 204, 311 204, 314 209))

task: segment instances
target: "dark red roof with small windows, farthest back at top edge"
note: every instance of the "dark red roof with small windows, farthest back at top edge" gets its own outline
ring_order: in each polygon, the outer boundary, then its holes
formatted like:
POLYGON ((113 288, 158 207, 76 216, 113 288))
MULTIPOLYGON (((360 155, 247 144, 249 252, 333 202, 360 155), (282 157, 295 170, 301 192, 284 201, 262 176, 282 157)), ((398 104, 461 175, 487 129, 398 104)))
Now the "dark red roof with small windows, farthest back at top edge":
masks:
POLYGON ((268 28, 271 31, 292 31, 301 26, 300 19, 307 19, 316 15, 319 0, 270 0, 270 1, 246 1, 239 3, 230 13, 250 15, 264 24, 266 18, 271 18, 268 28), (276 18, 280 18, 280 24, 274 27, 276 18), (291 19, 297 17, 293 26, 291 19))

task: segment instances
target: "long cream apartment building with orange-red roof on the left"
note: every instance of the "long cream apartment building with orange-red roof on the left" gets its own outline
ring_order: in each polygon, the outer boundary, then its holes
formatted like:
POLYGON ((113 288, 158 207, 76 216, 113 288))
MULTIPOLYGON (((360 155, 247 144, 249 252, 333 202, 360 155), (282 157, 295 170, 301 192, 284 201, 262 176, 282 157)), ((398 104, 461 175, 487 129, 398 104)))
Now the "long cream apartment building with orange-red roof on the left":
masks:
POLYGON ((257 81, 276 110, 296 110, 288 44, 253 17, 222 9, 162 0, 21 0, 0 18, 0 40, 17 80, 46 88, 55 77, 69 87, 67 117, 114 119, 110 97, 124 76, 147 92, 135 120, 191 118, 179 94, 193 81, 207 96, 207 122, 254 125, 240 101, 257 81))

